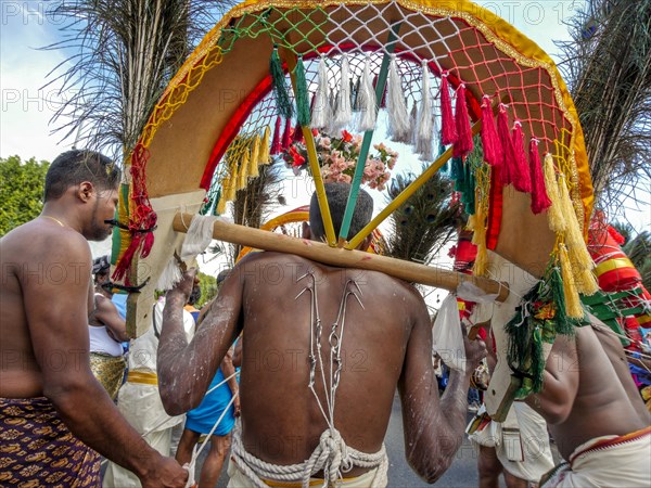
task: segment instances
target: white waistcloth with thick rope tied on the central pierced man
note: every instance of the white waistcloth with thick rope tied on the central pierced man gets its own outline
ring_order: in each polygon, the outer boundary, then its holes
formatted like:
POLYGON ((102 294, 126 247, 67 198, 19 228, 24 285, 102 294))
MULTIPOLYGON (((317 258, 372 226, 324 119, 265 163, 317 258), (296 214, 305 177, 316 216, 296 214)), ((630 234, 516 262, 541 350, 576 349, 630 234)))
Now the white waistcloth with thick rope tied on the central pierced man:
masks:
POLYGON ((347 447, 336 429, 328 429, 321 435, 319 445, 306 462, 273 465, 246 452, 241 431, 235 428, 228 466, 230 477, 228 488, 266 488, 269 486, 384 488, 388 483, 387 473, 388 458, 384 445, 379 452, 366 454, 347 447), (353 466, 368 467, 369 471, 361 476, 346 478, 343 474, 353 466), (324 479, 311 477, 319 472, 323 472, 324 479))

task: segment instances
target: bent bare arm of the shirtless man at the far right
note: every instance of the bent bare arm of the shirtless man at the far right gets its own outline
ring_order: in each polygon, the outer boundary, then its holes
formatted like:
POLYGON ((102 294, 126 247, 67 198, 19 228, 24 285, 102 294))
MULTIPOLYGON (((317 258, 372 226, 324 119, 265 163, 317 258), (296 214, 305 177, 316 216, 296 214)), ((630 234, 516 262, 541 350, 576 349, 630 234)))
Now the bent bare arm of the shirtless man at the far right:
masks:
POLYGON ((578 358, 575 338, 557 335, 545 365, 542 390, 525 401, 550 424, 564 422, 578 390, 578 358))

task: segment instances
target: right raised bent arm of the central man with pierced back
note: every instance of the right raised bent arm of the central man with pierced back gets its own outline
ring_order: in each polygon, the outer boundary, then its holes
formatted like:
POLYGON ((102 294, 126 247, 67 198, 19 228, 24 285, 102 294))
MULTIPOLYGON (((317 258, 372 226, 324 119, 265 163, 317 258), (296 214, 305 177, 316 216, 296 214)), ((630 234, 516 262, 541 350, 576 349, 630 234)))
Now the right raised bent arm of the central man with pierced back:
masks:
POLYGON ((432 325, 425 304, 419 301, 398 389, 407 461, 419 476, 434 483, 449 467, 463 440, 470 376, 485 351, 482 352, 483 343, 470 345, 465 338, 467 371, 451 370, 439 399, 432 367, 432 325))

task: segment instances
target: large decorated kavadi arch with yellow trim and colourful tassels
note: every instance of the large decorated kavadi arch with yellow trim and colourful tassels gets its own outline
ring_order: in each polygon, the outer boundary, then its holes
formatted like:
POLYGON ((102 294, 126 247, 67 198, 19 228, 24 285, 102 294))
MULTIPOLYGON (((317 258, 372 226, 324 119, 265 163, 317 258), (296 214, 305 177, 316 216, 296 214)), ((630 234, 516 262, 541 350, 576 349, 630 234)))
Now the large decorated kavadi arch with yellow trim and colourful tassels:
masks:
MULTIPOLYGON (((475 275, 488 278, 480 284, 495 290, 490 279, 507 281, 507 301, 516 304, 537 280, 562 277, 557 308, 582 314, 578 293, 596 288, 584 243, 592 190, 574 104, 545 52, 465 0, 261 0, 241 3, 206 35, 127 162, 119 218, 130 230, 120 231, 113 255, 114 277, 140 286, 129 297, 133 333, 146 326, 157 279, 183 240, 175 219, 182 230, 183 215, 222 213, 260 165, 296 140, 308 151, 333 256, 354 248, 451 158, 472 214, 475 275), (413 144, 427 170, 359 235, 347 235, 346 217, 335 235, 315 134, 363 134, 352 210, 365 144, 385 126, 394 140, 413 144), (481 157, 469 157, 477 150, 481 157), (531 278, 516 285, 492 270, 494 256, 531 278)), ((539 329, 522 341, 533 342, 539 329)), ((526 355, 512 360, 526 369, 526 355)))

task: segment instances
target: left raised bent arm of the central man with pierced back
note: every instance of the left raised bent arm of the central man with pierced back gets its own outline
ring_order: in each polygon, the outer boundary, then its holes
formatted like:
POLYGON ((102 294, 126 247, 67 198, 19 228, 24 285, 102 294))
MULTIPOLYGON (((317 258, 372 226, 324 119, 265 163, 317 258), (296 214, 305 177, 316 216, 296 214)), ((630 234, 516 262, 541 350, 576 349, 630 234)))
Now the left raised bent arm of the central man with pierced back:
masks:
POLYGON ((181 282, 167 292, 157 371, 161 399, 170 415, 184 413, 201 403, 217 368, 240 333, 241 268, 235 267, 224 282, 190 344, 183 332, 182 310, 192 292, 196 270, 188 271, 181 282))

